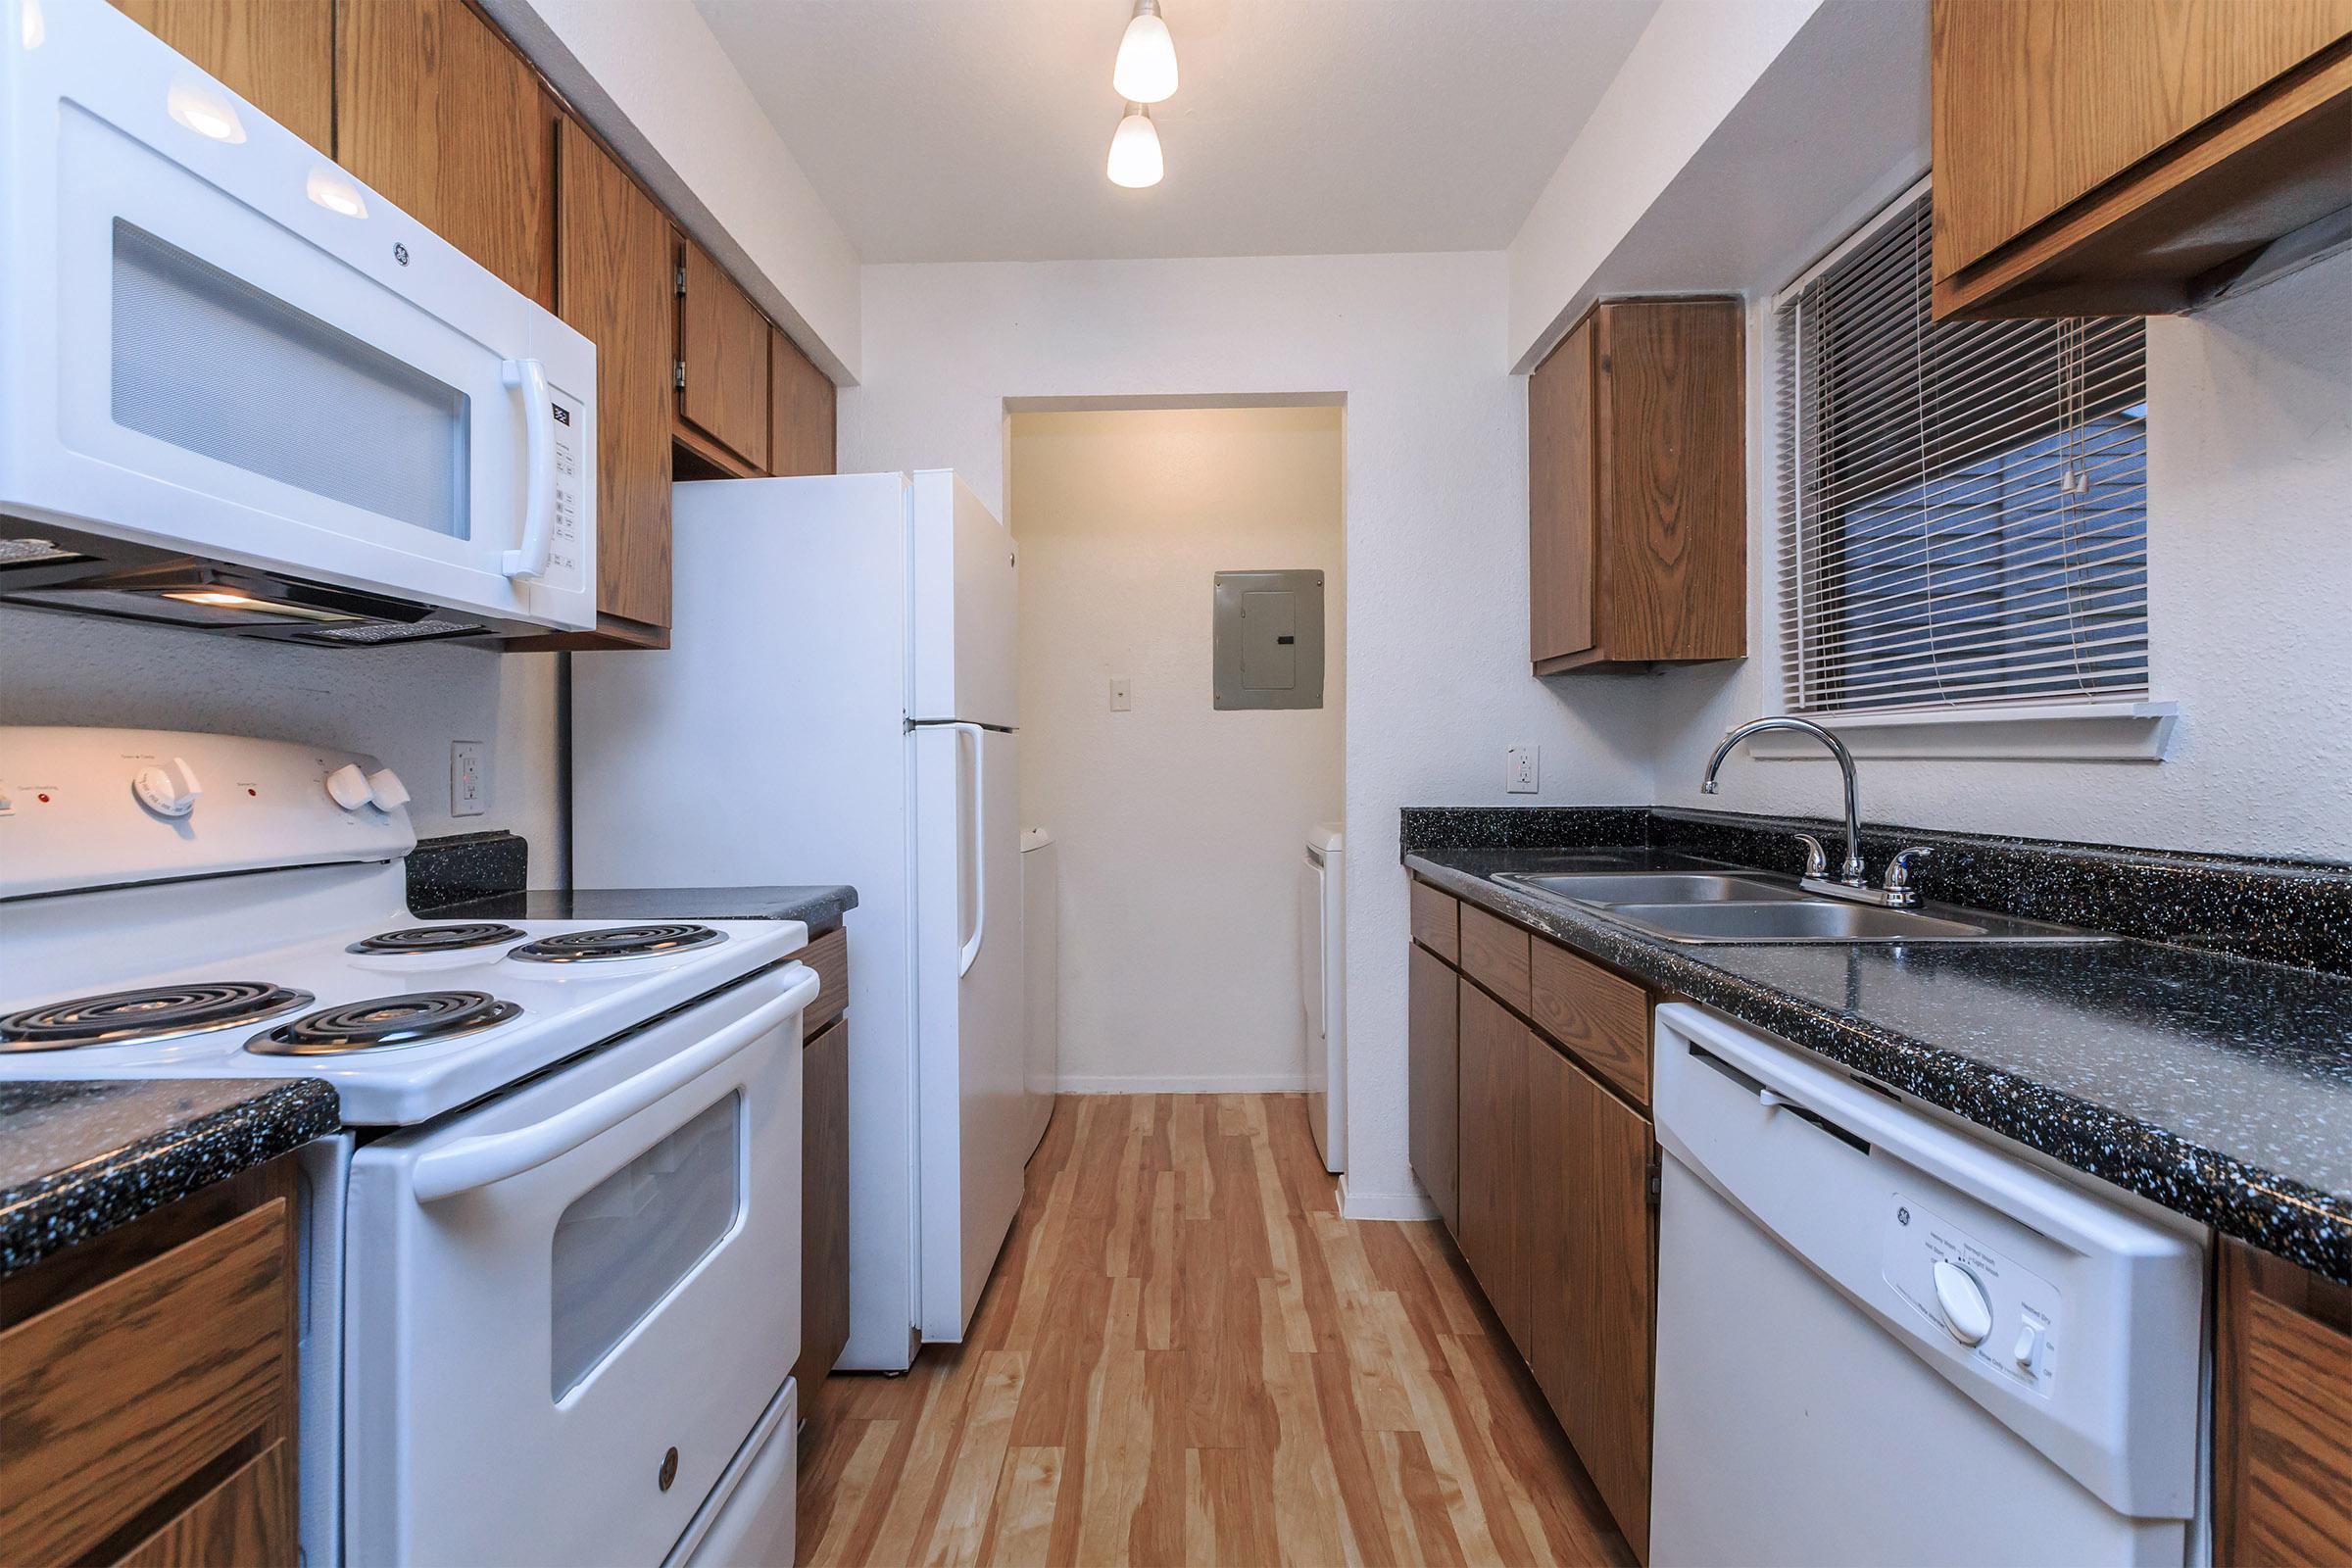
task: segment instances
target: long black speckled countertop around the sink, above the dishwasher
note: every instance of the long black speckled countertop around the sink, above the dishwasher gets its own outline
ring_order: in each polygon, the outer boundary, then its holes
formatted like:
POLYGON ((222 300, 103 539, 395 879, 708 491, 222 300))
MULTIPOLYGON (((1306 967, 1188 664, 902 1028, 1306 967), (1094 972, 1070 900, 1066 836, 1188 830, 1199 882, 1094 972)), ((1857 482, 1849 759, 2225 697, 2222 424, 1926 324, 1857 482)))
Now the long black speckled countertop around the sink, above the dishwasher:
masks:
MULTIPOLYGON (((2352 978, 2145 940, 1677 945, 1496 872, 1597 846, 1406 846, 1406 870, 1604 964, 2352 1284, 2352 978)), ((1663 851, 1623 851, 1625 870, 1663 851)))

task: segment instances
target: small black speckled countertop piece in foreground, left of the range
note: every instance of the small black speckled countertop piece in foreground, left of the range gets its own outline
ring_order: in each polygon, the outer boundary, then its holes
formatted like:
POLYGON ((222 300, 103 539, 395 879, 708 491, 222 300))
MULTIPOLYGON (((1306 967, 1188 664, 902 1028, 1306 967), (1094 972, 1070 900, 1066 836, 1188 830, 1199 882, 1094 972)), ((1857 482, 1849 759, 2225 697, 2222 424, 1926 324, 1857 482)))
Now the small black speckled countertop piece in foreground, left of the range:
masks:
POLYGON ((0 1084, 0 1279, 341 1124, 325 1079, 0 1084))

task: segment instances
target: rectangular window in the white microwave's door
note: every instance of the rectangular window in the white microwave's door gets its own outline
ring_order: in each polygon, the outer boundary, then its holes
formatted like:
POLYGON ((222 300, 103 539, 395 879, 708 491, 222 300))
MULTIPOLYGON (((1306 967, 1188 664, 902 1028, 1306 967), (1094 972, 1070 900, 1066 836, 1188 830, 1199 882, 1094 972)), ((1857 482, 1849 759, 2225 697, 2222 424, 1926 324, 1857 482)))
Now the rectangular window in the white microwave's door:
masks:
POLYGON ((466 393, 115 219, 113 418, 238 470, 470 538, 466 393))

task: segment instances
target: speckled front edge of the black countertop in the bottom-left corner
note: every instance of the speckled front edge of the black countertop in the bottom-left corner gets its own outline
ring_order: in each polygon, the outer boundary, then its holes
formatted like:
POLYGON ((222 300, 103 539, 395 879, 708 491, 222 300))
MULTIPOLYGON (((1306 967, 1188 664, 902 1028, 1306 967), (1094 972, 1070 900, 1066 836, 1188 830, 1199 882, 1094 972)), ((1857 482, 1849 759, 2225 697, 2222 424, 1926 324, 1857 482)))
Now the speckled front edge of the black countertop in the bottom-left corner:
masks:
POLYGON ((343 1128, 325 1079, 289 1079, 0 1192, 0 1279, 343 1128))

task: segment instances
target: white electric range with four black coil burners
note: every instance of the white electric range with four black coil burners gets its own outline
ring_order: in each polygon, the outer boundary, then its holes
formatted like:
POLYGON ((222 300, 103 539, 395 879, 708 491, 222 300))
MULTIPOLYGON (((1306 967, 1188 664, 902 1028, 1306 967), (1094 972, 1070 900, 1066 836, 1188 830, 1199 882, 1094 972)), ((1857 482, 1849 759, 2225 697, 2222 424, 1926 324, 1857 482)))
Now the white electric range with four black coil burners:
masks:
POLYGON ((308 1563, 790 1561, 797 922, 407 912, 400 780, 0 729, 0 1079, 318 1077, 308 1563))

